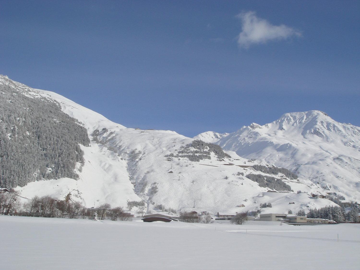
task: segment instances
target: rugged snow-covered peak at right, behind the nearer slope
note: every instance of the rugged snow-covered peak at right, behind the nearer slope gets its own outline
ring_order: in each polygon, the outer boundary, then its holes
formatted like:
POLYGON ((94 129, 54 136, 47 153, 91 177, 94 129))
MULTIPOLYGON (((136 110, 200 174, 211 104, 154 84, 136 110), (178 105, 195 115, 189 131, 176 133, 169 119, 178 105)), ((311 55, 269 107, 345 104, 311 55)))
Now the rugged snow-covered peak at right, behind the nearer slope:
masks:
POLYGON ((360 127, 321 111, 286 113, 260 126, 252 123, 216 142, 249 159, 288 168, 325 192, 360 197, 360 127))

